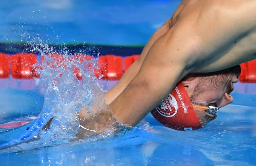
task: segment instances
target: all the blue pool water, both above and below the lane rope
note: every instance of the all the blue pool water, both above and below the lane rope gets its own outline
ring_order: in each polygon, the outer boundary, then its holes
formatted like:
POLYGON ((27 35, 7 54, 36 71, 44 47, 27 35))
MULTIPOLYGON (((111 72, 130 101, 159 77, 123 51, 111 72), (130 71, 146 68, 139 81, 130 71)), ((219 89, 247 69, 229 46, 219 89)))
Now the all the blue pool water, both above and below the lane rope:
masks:
MULTIPOLYGON (((52 44, 144 45, 179 3, 3 0, 0 42, 31 41, 39 36, 52 44)), ((115 83, 99 84, 107 90, 115 83)), ((45 104, 42 86, 40 80, 0 79, 0 123, 35 119, 45 104)), ((235 101, 221 108, 217 119, 196 131, 169 129, 149 114, 132 130, 106 139, 86 143, 63 140, 55 146, 42 142, 19 144, 0 151, 0 165, 253 166, 256 84, 236 83, 232 95, 235 101)), ((49 141, 50 136, 46 137, 49 141)))

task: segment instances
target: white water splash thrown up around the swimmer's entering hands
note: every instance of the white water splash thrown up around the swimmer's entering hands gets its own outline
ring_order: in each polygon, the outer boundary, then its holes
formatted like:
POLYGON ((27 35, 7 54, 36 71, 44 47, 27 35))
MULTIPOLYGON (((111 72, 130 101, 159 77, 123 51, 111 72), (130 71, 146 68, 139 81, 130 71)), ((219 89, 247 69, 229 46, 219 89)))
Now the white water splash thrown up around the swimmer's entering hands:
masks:
POLYGON ((113 136, 117 131, 126 130, 125 125, 110 116, 111 110, 106 111, 104 92, 94 76, 97 59, 86 60, 83 55, 72 56, 65 49, 61 51, 61 55, 57 55, 52 47, 43 44, 41 40, 28 45, 33 48, 30 51, 40 53, 41 57, 42 69, 37 69, 37 72, 43 83, 45 98, 41 113, 43 125, 46 125, 50 118, 53 119, 48 127, 43 127, 47 130, 40 130, 39 135, 34 136, 33 140, 9 147, 2 152, 26 151, 70 144, 74 141, 98 141, 113 136), (77 79, 78 73, 81 80, 77 79), (81 108, 86 108, 90 116, 90 119, 84 119, 85 124, 87 121, 98 123, 98 118, 104 117, 107 127, 97 128, 97 134, 87 132, 81 137, 79 133, 85 130, 80 124, 81 108))

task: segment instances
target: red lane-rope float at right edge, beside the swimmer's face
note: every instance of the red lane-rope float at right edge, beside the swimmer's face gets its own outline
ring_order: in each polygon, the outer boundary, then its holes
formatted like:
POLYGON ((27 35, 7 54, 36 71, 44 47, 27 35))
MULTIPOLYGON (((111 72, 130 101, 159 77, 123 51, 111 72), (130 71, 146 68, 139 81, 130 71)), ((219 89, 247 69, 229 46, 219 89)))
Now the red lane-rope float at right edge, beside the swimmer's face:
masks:
POLYGON ((256 83, 256 60, 240 64, 242 71, 239 81, 244 83, 256 83))

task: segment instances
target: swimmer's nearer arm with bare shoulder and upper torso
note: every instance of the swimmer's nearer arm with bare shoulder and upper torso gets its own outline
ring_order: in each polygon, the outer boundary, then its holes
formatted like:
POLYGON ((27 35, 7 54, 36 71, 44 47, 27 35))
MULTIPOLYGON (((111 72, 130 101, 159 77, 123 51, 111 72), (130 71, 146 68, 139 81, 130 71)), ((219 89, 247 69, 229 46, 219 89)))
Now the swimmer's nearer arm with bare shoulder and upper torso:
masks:
POLYGON ((211 72, 255 59, 255 0, 184 0, 152 44, 137 75, 110 103, 136 125, 190 72, 211 72))

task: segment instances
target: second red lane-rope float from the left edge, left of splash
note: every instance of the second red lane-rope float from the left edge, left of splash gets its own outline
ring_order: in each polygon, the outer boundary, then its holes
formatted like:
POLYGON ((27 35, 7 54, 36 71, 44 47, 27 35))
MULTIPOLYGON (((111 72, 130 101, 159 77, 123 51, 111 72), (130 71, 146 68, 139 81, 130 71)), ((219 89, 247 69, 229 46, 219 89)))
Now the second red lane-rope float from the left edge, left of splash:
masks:
POLYGON ((37 63, 35 54, 20 53, 11 56, 11 73, 14 78, 29 79, 38 75, 33 65, 37 63))

